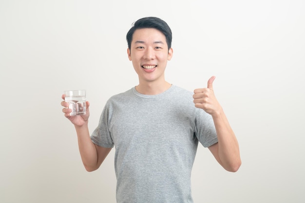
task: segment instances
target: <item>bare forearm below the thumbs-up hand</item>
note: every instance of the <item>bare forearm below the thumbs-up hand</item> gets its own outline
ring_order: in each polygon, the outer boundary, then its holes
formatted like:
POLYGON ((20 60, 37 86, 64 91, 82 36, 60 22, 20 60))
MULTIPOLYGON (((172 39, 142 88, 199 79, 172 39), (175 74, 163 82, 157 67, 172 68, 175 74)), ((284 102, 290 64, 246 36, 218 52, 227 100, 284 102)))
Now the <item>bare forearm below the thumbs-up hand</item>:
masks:
POLYGON ((218 156, 220 164, 229 171, 237 171, 241 165, 239 145, 229 121, 221 109, 212 115, 218 137, 218 156))

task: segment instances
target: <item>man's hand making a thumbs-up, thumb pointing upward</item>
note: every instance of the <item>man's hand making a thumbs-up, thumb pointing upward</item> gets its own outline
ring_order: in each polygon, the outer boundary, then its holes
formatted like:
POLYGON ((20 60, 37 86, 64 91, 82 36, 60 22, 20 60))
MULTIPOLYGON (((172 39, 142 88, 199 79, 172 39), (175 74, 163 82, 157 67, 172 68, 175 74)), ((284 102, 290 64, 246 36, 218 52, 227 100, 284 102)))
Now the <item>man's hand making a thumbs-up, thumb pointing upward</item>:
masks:
POLYGON ((195 89, 193 95, 195 107, 203 109, 210 115, 217 114, 222 109, 214 95, 213 82, 215 78, 212 76, 209 79, 207 88, 195 89))

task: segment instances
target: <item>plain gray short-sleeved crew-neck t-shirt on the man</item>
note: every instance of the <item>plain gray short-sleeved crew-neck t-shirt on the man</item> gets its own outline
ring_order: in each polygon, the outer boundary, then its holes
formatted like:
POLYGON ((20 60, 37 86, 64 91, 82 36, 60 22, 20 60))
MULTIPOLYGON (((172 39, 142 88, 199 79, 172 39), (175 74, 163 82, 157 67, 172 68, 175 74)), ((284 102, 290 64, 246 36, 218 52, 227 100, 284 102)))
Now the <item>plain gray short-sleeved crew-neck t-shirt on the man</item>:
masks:
POLYGON ((117 203, 192 203, 191 169, 198 140, 215 144, 213 120, 192 92, 172 85, 158 95, 135 88, 111 97, 92 141, 114 147, 117 203))

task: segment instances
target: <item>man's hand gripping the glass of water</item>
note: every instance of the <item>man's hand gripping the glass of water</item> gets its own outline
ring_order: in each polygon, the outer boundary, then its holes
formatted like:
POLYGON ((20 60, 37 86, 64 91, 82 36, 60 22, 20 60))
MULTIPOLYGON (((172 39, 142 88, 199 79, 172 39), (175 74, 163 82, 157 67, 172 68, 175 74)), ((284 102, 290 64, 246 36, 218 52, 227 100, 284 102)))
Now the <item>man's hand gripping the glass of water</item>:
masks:
MULTIPOLYGON (((63 100, 65 100, 65 95, 63 94, 61 96, 63 100)), ((76 126, 82 126, 85 123, 88 122, 88 118, 90 116, 89 112, 89 101, 86 101, 86 114, 85 115, 80 115, 80 116, 70 116, 70 113, 72 112, 71 109, 69 109, 69 103, 66 101, 61 101, 61 105, 64 107, 62 109, 62 112, 65 114, 65 117, 68 118, 74 125, 76 126)))

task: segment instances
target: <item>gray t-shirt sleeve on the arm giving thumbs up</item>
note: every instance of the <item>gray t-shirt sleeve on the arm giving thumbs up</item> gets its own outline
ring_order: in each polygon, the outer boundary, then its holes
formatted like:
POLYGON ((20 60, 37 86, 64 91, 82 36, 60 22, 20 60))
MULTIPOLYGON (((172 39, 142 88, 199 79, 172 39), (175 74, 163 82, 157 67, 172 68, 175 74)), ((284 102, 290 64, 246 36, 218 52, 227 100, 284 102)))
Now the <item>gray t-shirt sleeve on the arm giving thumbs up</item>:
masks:
POLYGON ((196 109, 195 135, 204 147, 210 147, 218 142, 213 118, 203 109, 196 109))

